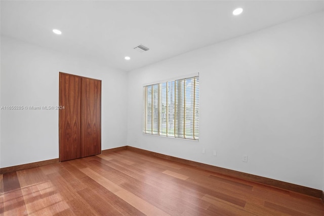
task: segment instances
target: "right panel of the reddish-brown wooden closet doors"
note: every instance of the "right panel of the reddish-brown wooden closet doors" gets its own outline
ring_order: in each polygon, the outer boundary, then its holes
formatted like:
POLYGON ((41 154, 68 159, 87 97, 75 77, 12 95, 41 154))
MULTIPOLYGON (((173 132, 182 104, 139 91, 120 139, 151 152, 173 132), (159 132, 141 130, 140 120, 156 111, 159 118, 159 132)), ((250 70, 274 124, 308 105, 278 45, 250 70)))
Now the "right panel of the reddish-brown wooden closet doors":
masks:
POLYGON ((82 79, 82 157, 101 154, 101 80, 82 79))

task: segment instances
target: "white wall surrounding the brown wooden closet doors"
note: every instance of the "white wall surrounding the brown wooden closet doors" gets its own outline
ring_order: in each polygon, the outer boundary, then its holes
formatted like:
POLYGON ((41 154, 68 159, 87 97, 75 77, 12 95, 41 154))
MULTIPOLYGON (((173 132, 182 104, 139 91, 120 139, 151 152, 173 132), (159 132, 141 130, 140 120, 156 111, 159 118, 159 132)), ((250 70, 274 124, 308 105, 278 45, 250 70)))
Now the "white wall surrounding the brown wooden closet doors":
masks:
MULTIPOLYGON (((125 146, 126 72, 1 37, 2 106, 58 105, 59 71, 102 80, 102 149, 125 146)), ((1 167, 59 157, 57 110, 1 110, 1 117, 1 167)))

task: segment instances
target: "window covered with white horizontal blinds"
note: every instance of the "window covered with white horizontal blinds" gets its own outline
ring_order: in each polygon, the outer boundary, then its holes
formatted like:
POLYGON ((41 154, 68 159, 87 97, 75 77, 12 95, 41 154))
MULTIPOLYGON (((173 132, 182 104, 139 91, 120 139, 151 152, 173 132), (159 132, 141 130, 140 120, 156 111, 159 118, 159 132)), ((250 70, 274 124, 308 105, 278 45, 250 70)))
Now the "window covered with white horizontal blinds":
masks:
POLYGON ((143 133, 199 138, 199 77, 143 87, 143 133))

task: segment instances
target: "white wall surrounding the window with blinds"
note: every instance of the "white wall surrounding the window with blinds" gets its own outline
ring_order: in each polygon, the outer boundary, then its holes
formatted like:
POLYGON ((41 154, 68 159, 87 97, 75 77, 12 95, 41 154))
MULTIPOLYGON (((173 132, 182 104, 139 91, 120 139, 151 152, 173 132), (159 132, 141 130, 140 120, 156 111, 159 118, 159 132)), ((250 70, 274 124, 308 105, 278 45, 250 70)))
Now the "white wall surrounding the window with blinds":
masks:
POLYGON ((131 71, 128 145, 322 189, 323 36, 313 14, 131 71), (142 134, 143 84, 197 72, 199 141, 142 134))

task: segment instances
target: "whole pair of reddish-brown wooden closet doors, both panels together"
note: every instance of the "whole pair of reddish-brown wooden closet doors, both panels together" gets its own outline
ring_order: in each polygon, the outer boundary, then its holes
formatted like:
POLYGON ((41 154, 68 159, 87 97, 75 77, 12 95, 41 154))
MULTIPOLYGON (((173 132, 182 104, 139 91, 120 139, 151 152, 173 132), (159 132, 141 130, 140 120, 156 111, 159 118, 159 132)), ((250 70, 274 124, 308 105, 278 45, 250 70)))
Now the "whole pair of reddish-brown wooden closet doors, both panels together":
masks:
POLYGON ((101 153, 101 80, 60 73, 60 161, 101 153))

